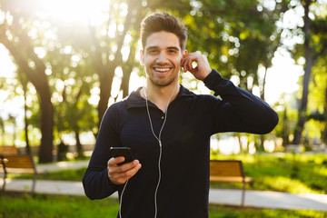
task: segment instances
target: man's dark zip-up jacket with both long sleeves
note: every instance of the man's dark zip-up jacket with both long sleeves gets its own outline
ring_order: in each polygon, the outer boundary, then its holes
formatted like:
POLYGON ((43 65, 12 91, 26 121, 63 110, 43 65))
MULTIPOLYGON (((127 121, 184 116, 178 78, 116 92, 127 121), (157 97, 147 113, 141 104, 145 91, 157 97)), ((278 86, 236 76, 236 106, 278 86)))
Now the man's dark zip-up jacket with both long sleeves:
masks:
MULTIPOLYGON (((224 79, 216 70, 204 84, 222 99, 193 94, 181 85, 166 114, 149 102, 154 133, 163 117, 162 179, 157 193, 158 218, 208 217, 210 137, 223 132, 268 134, 278 115, 260 98, 224 79)), ((154 217, 154 191, 158 183, 159 144, 152 134, 145 100, 134 92, 111 105, 100 127, 89 166, 84 174, 84 192, 91 199, 107 197, 124 185, 114 185, 106 164, 112 146, 131 147, 142 168, 124 191, 122 217, 154 217)))

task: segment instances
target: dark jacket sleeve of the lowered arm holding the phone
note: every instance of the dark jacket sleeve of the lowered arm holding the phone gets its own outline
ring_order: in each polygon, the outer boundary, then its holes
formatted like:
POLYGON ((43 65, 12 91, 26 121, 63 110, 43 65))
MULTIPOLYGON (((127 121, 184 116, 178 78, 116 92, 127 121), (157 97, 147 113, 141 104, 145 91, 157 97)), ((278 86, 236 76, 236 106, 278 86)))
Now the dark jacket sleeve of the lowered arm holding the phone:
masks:
POLYGON ((110 159, 110 147, 119 146, 119 134, 115 128, 116 109, 112 105, 104 114, 94 152, 84 173, 84 193, 92 200, 110 196, 119 189, 119 185, 108 178, 107 162, 110 159))

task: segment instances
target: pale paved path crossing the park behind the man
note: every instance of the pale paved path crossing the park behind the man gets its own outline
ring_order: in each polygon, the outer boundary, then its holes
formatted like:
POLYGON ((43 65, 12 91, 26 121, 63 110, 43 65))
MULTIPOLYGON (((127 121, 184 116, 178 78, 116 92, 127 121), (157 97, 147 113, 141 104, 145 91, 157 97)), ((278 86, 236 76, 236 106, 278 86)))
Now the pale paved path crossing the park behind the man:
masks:
MULTIPOLYGON (((83 162, 64 162, 38 165, 37 170, 41 172, 52 172, 61 169, 78 169, 86 166, 88 161, 83 162)), ((2 185, 2 181, 0 182, 2 185)), ((15 192, 26 192, 30 190, 32 180, 6 180, 6 190, 15 192)), ((50 194, 72 194, 84 195, 81 182, 64 181, 42 181, 37 180, 35 185, 36 193, 50 194)), ((209 194, 210 203, 225 205, 240 205, 241 190, 231 189, 211 189, 209 194)), ((114 193, 113 197, 117 197, 114 193)), ((313 193, 281 193, 267 191, 247 190, 245 193, 245 206, 273 209, 308 209, 327 212, 327 194, 313 193)))

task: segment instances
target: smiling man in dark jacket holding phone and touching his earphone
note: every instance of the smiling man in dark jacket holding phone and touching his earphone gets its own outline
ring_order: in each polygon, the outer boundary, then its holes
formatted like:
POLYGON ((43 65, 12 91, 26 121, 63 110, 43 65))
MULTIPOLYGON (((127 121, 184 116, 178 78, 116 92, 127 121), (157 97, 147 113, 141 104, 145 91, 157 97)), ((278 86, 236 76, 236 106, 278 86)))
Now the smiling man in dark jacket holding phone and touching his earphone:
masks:
POLYGON ((118 217, 208 217, 211 135, 268 134, 278 123, 268 104, 224 79, 205 56, 187 53, 186 38, 172 15, 146 17, 141 64, 147 83, 104 114, 84 191, 91 199, 118 191, 118 217), (178 84, 181 67, 223 100, 178 84), (135 160, 118 165, 124 157, 110 157, 114 146, 130 147, 135 160))

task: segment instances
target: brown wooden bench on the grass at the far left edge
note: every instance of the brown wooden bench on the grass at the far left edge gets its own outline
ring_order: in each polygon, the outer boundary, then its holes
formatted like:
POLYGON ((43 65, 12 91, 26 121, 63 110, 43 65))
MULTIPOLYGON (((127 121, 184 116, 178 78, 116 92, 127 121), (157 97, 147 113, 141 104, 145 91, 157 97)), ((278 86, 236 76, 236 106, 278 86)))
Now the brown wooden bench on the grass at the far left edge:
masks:
POLYGON ((18 150, 15 146, 0 146, 0 173, 4 174, 3 192, 5 192, 5 179, 7 178, 7 173, 34 174, 31 193, 35 192, 37 172, 31 154, 18 154, 18 150))

